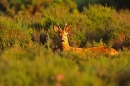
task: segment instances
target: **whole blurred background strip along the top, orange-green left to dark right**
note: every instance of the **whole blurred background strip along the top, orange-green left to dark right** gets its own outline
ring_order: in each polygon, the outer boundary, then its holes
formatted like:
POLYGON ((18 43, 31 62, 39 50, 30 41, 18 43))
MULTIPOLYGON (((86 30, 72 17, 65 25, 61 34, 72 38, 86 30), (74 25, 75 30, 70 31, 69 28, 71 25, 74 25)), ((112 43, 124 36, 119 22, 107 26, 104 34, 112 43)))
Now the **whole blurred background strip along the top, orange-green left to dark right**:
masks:
POLYGON ((0 13, 14 14, 21 12, 31 12, 32 14, 38 14, 41 11, 40 8, 46 8, 48 5, 59 4, 71 5, 71 10, 78 8, 79 11, 83 10, 83 7, 88 7, 89 4, 102 4, 104 6, 112 6, 117 10, 130 9, 130 0, 1 0, 0 1, 0 13))

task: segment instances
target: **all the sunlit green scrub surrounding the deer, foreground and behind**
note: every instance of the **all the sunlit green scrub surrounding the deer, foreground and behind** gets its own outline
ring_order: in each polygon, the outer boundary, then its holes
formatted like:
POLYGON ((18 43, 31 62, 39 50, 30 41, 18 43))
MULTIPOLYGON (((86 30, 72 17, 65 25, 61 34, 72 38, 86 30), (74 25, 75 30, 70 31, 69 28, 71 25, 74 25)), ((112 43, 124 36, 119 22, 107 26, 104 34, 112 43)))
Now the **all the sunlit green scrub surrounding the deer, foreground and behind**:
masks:
POLYGON ((14 13, 8 7, 1 12, 0 86, 129 86, 130 11, 89 5, 78 12, 73 1, 71 5, 70 0, 57 1, 49 6, 30 1, 27 6, 15 4, 21 8, 14 13), (34 12, 30 6, 39 9, 34 12), (57 23, 71 24, 71 46, 104 45, 119 55, 61 52, 53 30, 57 23))

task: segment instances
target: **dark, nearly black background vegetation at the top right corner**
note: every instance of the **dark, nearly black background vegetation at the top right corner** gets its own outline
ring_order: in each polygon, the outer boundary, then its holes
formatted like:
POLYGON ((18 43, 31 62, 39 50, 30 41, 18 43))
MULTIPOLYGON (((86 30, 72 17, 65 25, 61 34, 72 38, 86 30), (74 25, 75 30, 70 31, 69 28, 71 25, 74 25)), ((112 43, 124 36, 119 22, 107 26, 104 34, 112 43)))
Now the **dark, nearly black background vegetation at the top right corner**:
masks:
POLYGON ((78 4, 78 8, 81 10, 82 6, 87 6, 88 4, 102 4, 104 6, 112 6, 117 10, 120 9, 130 9, 130 0, 75 0, 78 4))

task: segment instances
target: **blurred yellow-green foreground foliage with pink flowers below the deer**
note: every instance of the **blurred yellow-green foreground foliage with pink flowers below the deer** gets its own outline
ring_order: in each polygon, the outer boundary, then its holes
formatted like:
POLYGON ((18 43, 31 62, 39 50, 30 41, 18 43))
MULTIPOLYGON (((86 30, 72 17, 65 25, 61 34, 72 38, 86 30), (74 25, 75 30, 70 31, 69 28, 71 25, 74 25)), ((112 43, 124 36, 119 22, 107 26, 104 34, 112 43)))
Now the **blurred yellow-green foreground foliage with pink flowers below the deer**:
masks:
POLYGON ((123 80, 129 84, 128 54, 129 51, 125 51, 114 58, 87 55, 87 59, 82 59, 71 52, 51 53, 40 46, 32 53, 11 48, 0 56, 0 84, 119 86, 124 84, 123 80))

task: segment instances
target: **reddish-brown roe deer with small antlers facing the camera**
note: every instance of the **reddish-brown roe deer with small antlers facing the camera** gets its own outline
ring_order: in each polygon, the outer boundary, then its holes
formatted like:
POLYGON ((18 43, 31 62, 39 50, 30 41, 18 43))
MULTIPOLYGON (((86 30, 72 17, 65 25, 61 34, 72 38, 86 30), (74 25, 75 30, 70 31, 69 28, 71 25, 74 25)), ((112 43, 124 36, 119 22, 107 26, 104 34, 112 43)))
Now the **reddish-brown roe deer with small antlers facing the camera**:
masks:
POLYGON ((92 54, 108 54, 108 55, 117 55, 118 52, 113 48, 108 48, 105 46, 91 47, 91 48, 74 48, 69 45, 68 42, 68 33, 70 31, 71 25, 65 25, 64 29, 61 29, 60 26, 54 25, 54 30, 59 34, 60 37, 60 50, 61 51, 73 51, 74 53, 79 53, 85 55, 86 52, 92 54))

